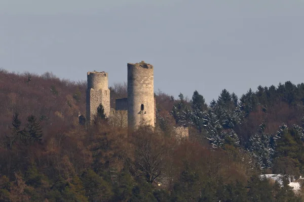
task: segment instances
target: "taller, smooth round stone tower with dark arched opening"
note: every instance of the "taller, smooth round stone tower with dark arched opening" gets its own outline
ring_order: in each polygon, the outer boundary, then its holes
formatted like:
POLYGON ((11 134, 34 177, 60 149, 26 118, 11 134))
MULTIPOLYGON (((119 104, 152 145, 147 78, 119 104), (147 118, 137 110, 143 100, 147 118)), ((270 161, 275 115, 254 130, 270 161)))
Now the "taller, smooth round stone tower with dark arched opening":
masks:
POLYGON ((154 68, 144 61, 128 63, 128 128, 155 126, 154 68))

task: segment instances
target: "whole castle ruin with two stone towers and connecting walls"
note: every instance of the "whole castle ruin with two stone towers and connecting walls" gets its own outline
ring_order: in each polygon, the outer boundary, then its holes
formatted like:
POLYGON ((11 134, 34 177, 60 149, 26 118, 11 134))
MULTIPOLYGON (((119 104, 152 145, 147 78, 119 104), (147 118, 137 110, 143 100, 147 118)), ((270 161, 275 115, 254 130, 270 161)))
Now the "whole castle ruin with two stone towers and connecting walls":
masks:
MULTIPOLYGON (((86 97, 86 122, 91 124, 101 104, 104 113, 113 125, 137 129, 140 125, 155 127, 156 99, 154 97, 154 67, 144 61, 128 63, 128 97, 116 99, 115 109, 110 109, 108 74, 88 72, 86 97)), ((182 136, 187 133, 182 132, 182 136)), ((176 131, 181 132, 180 128, 176 131)), ((185 135, 187 136, 187 135, 185 135)))

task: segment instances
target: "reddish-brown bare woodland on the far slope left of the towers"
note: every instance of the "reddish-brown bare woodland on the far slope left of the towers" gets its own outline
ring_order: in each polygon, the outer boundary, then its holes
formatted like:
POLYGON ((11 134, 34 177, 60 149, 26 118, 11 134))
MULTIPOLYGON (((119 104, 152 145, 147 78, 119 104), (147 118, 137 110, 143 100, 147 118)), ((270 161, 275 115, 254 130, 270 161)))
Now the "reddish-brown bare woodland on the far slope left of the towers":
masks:
MULTIPOLYGON (((8 128, 16 111, 20 112, 21 120, 29 115, 43 119, 45 131, 48 131, 48 126, 54 127, 62 120, 72 125, 71 120, 78 119, 78 112, 85 114, 85 92, 86 82, 60 80, 52 73, 39 76, 28 72, 16 74, 1 71, 0 131, 8 128), (81 92, 79 101, 73 98, 77 91, 81 92)), ((0 135, 4 135, 4 132, 0 135)))

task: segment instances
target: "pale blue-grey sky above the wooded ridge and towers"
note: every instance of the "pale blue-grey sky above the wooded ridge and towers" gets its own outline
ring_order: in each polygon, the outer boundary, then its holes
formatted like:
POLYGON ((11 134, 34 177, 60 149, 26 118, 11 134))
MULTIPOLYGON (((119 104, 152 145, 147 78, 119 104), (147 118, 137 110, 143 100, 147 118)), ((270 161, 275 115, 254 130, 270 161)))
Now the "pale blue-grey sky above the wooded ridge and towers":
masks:
POLYGON ((304 0, 0 0, 0 67, 85 80, 127 63, 155 67, 155 90, 194 90, 209 103, 226 88, 304 81, 304 0))

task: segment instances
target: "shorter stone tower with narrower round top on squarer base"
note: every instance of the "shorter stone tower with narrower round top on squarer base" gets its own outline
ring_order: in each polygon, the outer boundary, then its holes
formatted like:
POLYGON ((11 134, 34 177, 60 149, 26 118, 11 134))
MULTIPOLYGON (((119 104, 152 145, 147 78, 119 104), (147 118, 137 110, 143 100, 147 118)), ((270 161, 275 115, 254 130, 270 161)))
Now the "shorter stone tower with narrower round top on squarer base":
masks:
POLYGON ((88 72, 88 89, 86 96, 87 123, 91 124, 101 104, 106 117, 110 115, 110 90, 108 74, 105 72, 88 72))

